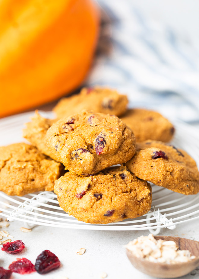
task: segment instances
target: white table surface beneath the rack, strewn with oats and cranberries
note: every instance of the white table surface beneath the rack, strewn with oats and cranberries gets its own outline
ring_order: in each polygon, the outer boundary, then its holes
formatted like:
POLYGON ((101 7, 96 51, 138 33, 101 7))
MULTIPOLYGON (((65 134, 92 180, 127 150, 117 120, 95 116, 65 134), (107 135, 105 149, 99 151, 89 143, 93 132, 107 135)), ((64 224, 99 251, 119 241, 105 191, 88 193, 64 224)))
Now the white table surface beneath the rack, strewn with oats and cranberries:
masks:
MULTIPOLYGON (((24 279, 97 279, 103 272, 107 279, 150 279, 137 271, 128 260, 123 245, 148 231, 94 231, 76 229, 58 229, 46 226, 36 226, 30 233, 23 233, 20 227, 22 222, 10 223, 7 231, 14 236, 14 240, 25 243, 23 252, 10 255, 0 251, 0 266, 8 265, 16 258, 28 258, 35 264, 36 257, 46 249, 58 256, 62 265, 56 271, 46 275, 36 272, 28 275, 13 273, 12 278, 24 279), (84 255, 77 255, 80 248, 85 248, 84 255)), ((162 229, 162 235, 179 236, 199 241, 199 222, 180 224, 175 230, 162 229)), ((181 277, 182 278, 182 277, 181 277)), ((193 276, 188 274, 183 279, 197 279, 199 271, 193 276)))

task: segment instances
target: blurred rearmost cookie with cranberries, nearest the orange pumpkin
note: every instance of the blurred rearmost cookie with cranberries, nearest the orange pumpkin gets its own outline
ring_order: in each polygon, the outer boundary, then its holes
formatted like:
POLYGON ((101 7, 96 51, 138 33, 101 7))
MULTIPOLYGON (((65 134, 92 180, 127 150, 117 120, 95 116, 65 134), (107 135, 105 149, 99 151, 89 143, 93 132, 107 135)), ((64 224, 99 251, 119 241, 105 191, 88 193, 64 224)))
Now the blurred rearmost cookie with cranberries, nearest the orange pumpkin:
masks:
POLYGON ((116 90, 103 87, 83 88, 78 95, 63 98, 53 111, 58 118, 77 114, 82 110, 122 115, 127 109, 126 95, 120 95, 116 90))

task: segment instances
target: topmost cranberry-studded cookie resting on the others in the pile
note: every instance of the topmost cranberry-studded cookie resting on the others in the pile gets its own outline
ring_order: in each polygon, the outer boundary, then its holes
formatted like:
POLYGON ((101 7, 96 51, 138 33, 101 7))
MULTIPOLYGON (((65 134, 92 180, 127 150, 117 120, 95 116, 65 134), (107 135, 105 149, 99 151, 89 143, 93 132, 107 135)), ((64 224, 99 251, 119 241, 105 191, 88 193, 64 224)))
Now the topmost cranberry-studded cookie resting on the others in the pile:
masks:
POLYGON ((46 142, 66 169, 78 175, 127 162, 135 153, 134 134, 122 120, 88 111, 52 124, 46 142))

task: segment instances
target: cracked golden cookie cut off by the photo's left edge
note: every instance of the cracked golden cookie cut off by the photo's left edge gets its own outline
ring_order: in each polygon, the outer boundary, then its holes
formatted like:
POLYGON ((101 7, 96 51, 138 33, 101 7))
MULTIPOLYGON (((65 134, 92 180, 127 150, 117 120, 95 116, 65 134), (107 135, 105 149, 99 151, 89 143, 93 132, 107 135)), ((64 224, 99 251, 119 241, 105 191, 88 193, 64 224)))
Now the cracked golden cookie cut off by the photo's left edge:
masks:
POLYGON ((23 196, 52 191, 62 165, 26 143, 0 147, 0 191, 23 196))

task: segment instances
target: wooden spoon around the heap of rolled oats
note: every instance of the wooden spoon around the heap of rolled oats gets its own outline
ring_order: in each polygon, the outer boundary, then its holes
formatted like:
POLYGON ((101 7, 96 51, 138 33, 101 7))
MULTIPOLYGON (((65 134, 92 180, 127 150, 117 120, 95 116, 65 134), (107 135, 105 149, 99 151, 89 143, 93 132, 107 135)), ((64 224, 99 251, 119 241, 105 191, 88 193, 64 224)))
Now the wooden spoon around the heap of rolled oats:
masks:
POLYGON ((127 256, 131 264, 139 271, 153 277, 176 278, 184 276, 194 270, 199 265, 199 242, 191 239, 175 236, 154 236, 156 240, 175 241, 180 250, 189 250, 195 259, 177 264, 154 263, 144 258, 137 258, 133 253, 126 249, 127 256))

